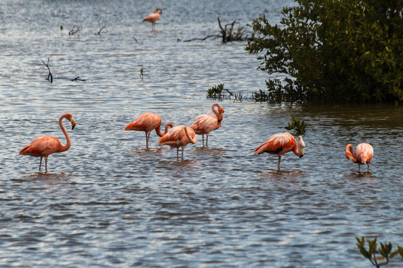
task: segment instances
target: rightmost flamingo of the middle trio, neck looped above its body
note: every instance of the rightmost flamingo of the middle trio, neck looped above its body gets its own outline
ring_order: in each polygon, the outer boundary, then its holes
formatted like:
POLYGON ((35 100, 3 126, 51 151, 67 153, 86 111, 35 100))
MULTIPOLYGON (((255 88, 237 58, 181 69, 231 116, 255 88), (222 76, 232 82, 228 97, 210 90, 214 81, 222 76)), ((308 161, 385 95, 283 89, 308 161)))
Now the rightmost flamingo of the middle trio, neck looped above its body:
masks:
POLYGON ((215 103, 211 106, 214 115, 199 115, 194 119, 193 124, 190 126, 194 130, 194 133, 197 135, 203 135, 203 146, 205 146, 205 134, 206 134, 206 146, 209 141, 209 134, 215 129, 219 129, 221 127, 221 123, 223 121, 224 109, 218 103, 215 103), (214 107, 217 106, 218 112, 214 107))

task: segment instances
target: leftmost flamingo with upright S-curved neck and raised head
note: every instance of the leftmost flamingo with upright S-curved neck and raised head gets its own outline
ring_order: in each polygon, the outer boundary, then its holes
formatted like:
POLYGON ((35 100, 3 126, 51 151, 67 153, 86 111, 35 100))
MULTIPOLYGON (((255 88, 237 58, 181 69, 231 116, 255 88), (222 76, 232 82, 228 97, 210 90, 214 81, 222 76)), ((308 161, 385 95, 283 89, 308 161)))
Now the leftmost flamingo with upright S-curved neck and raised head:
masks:
POLYGON ((69 113, 60 116, 59 125, 61 131, 63 131, 64 136, 66 137, 67 143, 66 145, 61 145, 60 141, 55 137, 42 136, 37 137, 31 143, 24 147, 18 155, 30 155, 35 157, 40 157, 41 160, 39 162, 39 171, 41 171, 42 158, 45 157, 45 172, 47 171, 47 158, 52 153, 60 153, 69 150, 71 142, 69 134, 64 129, 63 124, 61 124, 61 120, 65 118, 72 123, 72 130, 76 126, 76 121, 73 116, 69 113))

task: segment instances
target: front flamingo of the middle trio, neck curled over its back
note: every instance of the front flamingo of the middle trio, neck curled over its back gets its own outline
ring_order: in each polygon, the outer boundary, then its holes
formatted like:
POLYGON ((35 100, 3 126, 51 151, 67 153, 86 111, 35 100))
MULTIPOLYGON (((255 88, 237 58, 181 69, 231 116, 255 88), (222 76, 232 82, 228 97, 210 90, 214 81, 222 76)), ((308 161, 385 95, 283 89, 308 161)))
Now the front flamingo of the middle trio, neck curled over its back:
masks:
POLYGON ((169 145, 176 148, 176 160, 179 159, 179 147, 182 147, 182 161, 183 161, 183 149, 189 143, 196 143, 196 135, 193 129, 185 126, 177 126, 171 128, 166 135, 160 138, 159 145, 169 145))

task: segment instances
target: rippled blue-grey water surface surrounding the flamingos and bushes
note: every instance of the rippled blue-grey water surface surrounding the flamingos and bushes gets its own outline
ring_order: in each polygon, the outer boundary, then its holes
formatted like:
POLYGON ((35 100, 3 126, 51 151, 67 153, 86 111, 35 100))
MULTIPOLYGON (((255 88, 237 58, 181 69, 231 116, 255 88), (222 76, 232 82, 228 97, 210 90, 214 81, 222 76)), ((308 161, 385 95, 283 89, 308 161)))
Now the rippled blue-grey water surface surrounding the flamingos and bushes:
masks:
POLYGON ((278 23, 284 5, 293 2, 0 2, 0 266, 371 267, 355 236, 403 246, 400 108, 224 100, 209 147, 197 136, 184 161, 155 132, 146 150, 143 132, 124 131, 146 112, 189 126, 212 113, 206 92, 219 83, 264 90, 245 42, 183 41, 218 33, 217 17, 278 23), (156 7, 151 32, 141 21, 156 7), (38 172, 39 158, 18 152, 37 136, 65 144, 57 120, 68 112, 72 146, 38 172), (279 171, 276 155, 253 150, 290 115, 308 124, 307 147, 279 171), (374 148, 370 172, 344 155, 360 142, 374 148))

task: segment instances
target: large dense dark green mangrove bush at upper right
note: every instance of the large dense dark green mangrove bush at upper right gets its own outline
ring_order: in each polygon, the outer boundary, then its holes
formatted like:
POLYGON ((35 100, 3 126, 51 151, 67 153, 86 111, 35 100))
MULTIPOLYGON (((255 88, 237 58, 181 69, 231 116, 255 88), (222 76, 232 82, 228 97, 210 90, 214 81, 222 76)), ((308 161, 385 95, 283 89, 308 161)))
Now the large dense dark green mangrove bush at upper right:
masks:
POLYGON ((266 81, 275 102, 401 102, 403 1, 297 0, 281 25, 251 24, 258 67, 291 78, 266 81))

